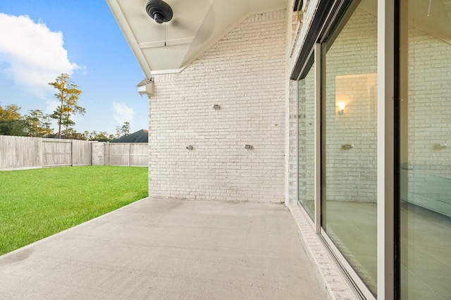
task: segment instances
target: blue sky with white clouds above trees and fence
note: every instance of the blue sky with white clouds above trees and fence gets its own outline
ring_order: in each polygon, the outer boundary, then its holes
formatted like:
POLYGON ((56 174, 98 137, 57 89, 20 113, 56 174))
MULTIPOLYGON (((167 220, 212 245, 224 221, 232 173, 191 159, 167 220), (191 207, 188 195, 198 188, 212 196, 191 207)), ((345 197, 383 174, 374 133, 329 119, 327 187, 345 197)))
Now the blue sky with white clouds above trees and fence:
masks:
POLYGON ((0 105, 51 113, 48 83, 61 73, 82 90, 78 132, 147 128, 147 97, 136 87, 144 73, 106 1, 0 1, 0 105))

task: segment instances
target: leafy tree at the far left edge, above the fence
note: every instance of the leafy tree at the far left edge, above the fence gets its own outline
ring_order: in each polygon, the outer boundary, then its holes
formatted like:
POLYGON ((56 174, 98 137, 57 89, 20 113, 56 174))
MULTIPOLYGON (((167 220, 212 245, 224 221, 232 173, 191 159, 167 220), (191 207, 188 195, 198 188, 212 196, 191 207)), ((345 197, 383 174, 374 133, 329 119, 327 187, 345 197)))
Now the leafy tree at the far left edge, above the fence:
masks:
POLYGON ((0 135, 27 135, 27 125, 16 104, 0 106, 0 135))

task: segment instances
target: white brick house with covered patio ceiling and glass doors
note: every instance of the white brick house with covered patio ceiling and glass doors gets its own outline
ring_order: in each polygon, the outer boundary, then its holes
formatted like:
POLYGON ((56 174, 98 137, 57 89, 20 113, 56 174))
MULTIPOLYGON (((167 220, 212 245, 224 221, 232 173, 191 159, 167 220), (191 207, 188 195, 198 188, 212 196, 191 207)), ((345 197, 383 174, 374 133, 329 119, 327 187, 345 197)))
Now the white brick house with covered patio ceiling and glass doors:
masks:
POLYGON ((195 57, 106 1, 146 75, 149 196, 285 204, 333 299, 451 294, 450 1, 193 0, 195 57))

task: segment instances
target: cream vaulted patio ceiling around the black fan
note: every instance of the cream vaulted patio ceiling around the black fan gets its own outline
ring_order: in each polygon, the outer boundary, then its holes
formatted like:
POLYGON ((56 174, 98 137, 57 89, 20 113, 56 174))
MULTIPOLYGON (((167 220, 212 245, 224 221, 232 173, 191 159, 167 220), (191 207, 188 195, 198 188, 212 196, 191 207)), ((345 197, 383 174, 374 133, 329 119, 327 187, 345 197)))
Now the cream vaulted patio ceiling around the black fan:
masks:
POLYGON ((173 18, 159 24, 147 15, 147 1, 106 0, 147 78, 180 72, 249 15, 287 6, 287 0, 165 0, 173 18))

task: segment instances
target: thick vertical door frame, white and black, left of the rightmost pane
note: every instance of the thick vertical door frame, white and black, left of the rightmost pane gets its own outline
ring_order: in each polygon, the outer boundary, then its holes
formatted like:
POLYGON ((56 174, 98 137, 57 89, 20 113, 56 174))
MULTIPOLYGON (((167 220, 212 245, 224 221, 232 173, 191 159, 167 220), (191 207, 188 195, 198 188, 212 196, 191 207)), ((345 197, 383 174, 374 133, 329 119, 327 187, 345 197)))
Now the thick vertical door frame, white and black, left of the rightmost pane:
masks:
POLYGON ((378 297, 388 300, 400 299, 397 4, 397 0, 378 0, 378 297))

